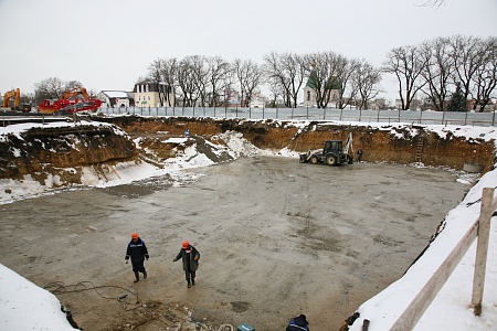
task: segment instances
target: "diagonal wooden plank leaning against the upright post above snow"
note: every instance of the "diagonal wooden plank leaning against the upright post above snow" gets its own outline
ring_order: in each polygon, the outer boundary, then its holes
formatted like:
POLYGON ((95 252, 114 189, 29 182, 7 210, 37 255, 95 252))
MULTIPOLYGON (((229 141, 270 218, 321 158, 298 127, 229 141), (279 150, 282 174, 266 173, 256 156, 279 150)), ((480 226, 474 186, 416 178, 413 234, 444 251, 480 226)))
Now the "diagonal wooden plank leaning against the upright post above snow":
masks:
POLYGON ((423 289, 417 293, 392 328, 390 328, 390 331, 408 331, 414 328, 426 308, 432 303, 440 289, 444 286, 445 281, 447 281, 452 271, 454 271, 469 246, 475 241, 478 229, 478 221, 479 218, 476 220, 472 227, 466 232, 461 242, 454 247, 435 274, 433 274, 432 278, 430 278, 423 289))

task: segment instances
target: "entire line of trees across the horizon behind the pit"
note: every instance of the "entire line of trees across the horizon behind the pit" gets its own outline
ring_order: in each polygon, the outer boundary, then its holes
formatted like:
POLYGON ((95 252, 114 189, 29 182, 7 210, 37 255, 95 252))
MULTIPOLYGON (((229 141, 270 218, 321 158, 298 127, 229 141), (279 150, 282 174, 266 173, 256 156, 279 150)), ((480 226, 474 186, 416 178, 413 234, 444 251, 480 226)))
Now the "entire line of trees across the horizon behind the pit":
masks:
MULTIPOLYGON (((308 54, 277 53, 253 60, 226 61, 221 56, 191 55, 152 61, 145 77, 159 86, 161 106, 218 107, 231 92, 240 94, 247 107, 265 84, 271 105, 296 107, 308 84, 315 92, 316 106, 343 109, 348 105, 367 108, 382 92, 383 74, 396 77, 402 109, 410 109, 420 96, 436 110, 482 111, 497 85, 497 38, 454 35, 436 38, 417 45, 392 49, 380 66, 363 58, 351 58, 336 52, 308 54), (335 92, 335 94, 332 93, 335 92), (173 98, 169 98, 173 94, 173 98), (337 96, 338 95, 338 96, 337 96)), ((137 83, 138 83, 137 82, 137 83)), ((59 98, 77 81, 49 78, 35 84, 35 99, 59 98)), ((305 96, 306 97, 306 96, 305 96)))

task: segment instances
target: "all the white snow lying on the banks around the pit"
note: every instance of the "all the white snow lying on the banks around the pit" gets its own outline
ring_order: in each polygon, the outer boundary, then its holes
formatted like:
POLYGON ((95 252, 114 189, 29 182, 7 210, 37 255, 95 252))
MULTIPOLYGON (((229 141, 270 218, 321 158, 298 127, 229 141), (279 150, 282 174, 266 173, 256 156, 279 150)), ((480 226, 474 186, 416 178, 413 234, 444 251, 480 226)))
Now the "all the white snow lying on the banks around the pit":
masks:
MULTIPOLYGON (((294 122, 300 129, 308 122, 294 122)), ((343 125, 343 122, 340 122, 343 125)), ((380 130, 389 130, 396 135, 400 128, 406 129, 409 135, 417 135, 417 128, 405 124, 361 124, 349 122, 355 126, 369 126, 380 130)), ((71 126, 73 124, 46 124, 43 127, 71 126)), ((102 124, 98 124, 102 125, 102 124)), ((18 135, 28 128, 42 125, 14 125, 0 128, 0 139, 8 139, 7 135, 18 135)), ((441 137, 466 137, 497 140, 497 132, 493 127, 455 127, 455 126, 425 126, 425 130, 441 137)), ((251 156, 282 156, 295 158, 298 153, 282 149, 279 151, 261 150, 245 140, 239 132, 225 132, 219 136, 226 145, 226 152, 233 158, 251 156)), ((402 136, 398 136, 402 139, 402 136)), ((177 143, 186 142, 187 138, 171 138, 177 143)), ((171 178, 180 180, 195 179, 201 174, 190 174, 184 170, 211 166, 213 162, 204 154, 199 153, 195 146, 190 146, 184 153, 168 161, 163 168, 141 162, 125 162, 117 164, 108 173, 108 181, 96 178, 91 169, 83 174, 84 185, 70 188, 71 190, 86 186, 107 186, 129 183, 150 177, 169 173, 171 178)), ((71 169, 68 169, 71 171, 71 169)), ((74 171, 74 170, 73 170, 74 171)), ((0 204, 15 200, 38 196, 40 194, 54 194, 57 177, 50 177, 45 185, 27 175, 23 181, 0 180, 0 204), (11 193, 7 194, 6 190, 11 193)), ((470 177, 459 177, 461 183, 469 184, 470 177)), ((452 252, 464 234, 472 227, 479 216, 484 188, 497 186, 497 170, 487 172, 469 190, 459 205, 455 206, 444 221, 444 228, 434 239, 423 256, 408 270, 408 273, 390 285, 387 289, 363 302, 358 311, 359 319, 350 325, 350 330, 362 330, 363 319, 370 320, 370 331, 389 330, 399 316, 409 306, 420 289, 432 277, 445 257, 452 252), (476 203, 474 203, 476 202, 476 203)), ((426 243, 429 244, 429 243, 426 243)), ((496 330, 497 325, 497 225, 493 220, 490 228, 489 254, 486 268, 485 292, 483 299, 483 313, 475 317, 470 309, 473 274, 475 266, 476 243, 467 250, 448 281, 436 296, 435 300, 425 311, 414 330, 496 330)), ((0 329, 1 330, 73 330, 61 311, 59 300, 50 292, 36 287, 23 277, 0 265, 0 329)), ((353 311, 350 312, 352 314, 353 311)))

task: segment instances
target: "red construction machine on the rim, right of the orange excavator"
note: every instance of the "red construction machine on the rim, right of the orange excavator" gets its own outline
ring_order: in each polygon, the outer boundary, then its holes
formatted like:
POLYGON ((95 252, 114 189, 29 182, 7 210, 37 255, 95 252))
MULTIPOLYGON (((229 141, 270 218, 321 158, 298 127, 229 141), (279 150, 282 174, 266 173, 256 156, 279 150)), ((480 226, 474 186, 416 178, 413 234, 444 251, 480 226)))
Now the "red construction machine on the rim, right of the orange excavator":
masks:
POLYGON ((78 86, 71 88, 59 98, 43 100, 38 105, 38 113, 77 113, 77 111, 96 111, 101 107, 102 100, 91 98, 86 88, 78 86))

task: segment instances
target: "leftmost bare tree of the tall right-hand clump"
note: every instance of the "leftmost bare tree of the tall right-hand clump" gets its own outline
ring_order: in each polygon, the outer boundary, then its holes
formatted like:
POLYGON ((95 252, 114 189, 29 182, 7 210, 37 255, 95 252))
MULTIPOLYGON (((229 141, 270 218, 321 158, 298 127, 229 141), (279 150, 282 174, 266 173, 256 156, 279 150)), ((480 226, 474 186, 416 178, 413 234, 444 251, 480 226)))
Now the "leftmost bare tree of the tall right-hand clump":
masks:
POLYGON ((425 60, 416 46, 396 47, 387 54, 382 71, 396 77, 402 110, 410 109, 416 93, 426 84, 421 79, 424 66, 425 60))

